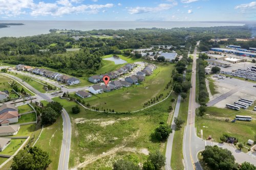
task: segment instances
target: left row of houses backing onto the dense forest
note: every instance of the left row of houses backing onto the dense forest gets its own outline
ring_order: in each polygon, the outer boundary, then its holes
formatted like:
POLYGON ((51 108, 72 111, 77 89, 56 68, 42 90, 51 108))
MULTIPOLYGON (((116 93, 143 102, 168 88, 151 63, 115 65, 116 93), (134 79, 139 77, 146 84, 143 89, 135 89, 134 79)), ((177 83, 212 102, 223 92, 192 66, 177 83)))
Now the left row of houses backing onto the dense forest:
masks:
POLYGON ((67 85, 79 84, 80 80, 74 77, 69 77, 67 75, 62 75, 58 72, 50 71, 45 68, 32 68, 31 66, 26 66, 23 64, 16 65, 17 70, 28 71, 36 75, 44 76, 50 79, 66 83, 67 85))

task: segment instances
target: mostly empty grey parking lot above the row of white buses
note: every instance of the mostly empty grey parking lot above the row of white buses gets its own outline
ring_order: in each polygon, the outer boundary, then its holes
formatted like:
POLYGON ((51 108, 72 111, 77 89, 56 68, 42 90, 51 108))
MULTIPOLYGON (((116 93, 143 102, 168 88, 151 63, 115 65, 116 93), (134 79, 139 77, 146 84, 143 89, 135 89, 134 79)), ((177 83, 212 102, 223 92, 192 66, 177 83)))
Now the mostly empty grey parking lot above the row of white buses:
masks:
POLYGON ((222 98, 218 103, 216 103, 214 106, 219 108, 224 108, 226 104, 233 104, 235 101, 238 101, 240 98, 245 98, 249 100, 256 100, 256 87, 253 87, 256 85, 255 83, 239 80, 236 78, 230 79, 229 77, 226 78, 226 76, 211 76, 211 79, 215 81, 215 87, 218 94, 214 95, 214 99, 216 98, 222 98), (233 90, 233 91, 232 91, 233 90), (231 95, 225 97, 222 96, 225 93, 230 93, 231 95))

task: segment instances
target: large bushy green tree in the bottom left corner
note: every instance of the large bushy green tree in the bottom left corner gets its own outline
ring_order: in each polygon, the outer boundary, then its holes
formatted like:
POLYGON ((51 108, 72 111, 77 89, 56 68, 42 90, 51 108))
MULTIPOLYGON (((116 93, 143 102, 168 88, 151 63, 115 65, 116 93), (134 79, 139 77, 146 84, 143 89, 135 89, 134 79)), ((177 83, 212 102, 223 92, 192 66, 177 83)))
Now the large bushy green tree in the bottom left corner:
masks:
POLYGON ((13 170, 23 169, 46 169, 51 163, 48 152, 42 151, 40 148, 32 147, 29 150, 20 150, 13 157, 11 168, 13 170))

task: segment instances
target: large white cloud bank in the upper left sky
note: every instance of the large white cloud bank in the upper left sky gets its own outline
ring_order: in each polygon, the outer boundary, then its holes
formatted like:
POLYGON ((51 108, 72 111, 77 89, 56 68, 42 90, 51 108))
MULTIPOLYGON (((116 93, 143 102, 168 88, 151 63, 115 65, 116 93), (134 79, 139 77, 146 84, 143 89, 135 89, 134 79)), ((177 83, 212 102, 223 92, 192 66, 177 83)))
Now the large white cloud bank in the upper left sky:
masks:
POLYGON ((31 16, 62 16, 77 13, 96 14, 100 9, 114 7, 113 4, 77 5, 81 2, 82 0, 58 0, 55 3, 34 3, 33 0, 0 0, 0 14, 8 17, 27 13, 31 16))

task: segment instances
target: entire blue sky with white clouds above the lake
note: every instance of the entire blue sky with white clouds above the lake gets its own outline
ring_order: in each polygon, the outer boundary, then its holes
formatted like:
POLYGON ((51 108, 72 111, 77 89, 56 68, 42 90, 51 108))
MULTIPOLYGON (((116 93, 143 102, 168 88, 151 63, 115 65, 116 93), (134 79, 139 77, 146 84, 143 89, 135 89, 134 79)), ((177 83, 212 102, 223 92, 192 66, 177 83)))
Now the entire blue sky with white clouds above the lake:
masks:
POLYGON ((256 20, 247 0, 0 0, 0 20, 256 20))

